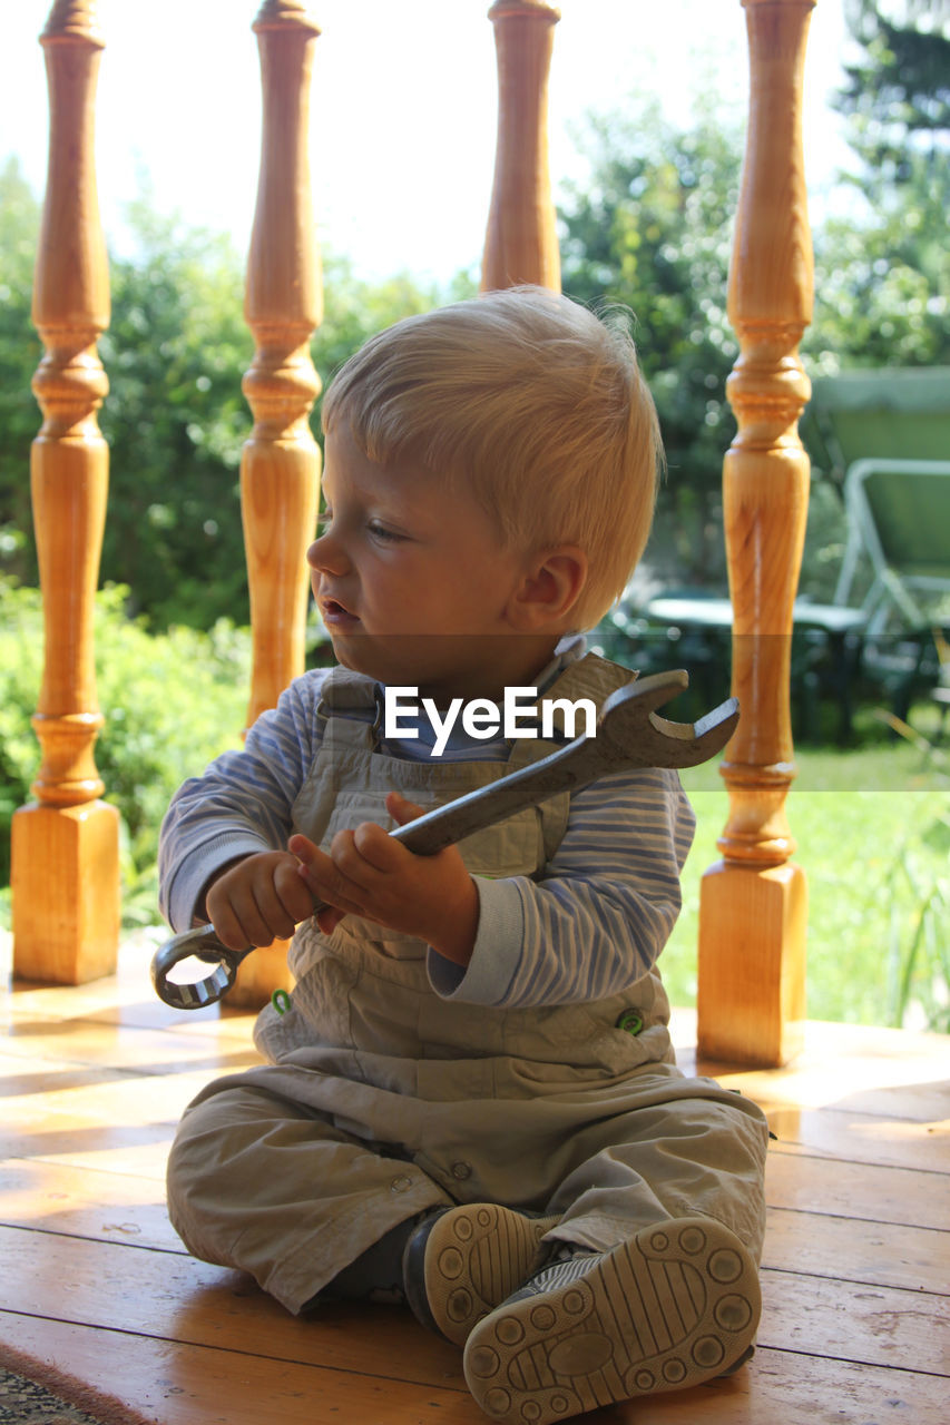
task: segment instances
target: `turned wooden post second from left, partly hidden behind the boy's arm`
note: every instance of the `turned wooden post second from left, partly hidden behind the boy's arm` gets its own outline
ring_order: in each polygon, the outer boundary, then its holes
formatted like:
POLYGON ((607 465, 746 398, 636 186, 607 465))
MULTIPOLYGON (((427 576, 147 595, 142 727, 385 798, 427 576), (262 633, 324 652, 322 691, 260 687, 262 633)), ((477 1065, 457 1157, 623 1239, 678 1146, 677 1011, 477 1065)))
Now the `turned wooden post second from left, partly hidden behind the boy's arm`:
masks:
MULTIPOLYGON (((304 671, 305 556, 320 497, 320 447, 308 422, 320 379, 310 341, 322 316, 308 157, 320 30, 301 0, 265 0, 252 28, 264 117, 244 304, 255 343, 242 383, 254 429, 241 457, 252 634, 248 725, 304 671)), ((228 1002, 261 1003, 288 982, 287 943, 280 940, 244 960, 228 1002)))

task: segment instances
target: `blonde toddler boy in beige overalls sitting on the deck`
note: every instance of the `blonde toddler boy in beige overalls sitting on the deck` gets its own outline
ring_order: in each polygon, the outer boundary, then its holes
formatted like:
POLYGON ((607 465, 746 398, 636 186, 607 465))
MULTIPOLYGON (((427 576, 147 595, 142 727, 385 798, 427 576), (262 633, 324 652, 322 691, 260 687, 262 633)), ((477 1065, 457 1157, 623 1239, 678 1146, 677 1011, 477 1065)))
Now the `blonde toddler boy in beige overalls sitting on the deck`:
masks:
POLYGON ((693 831, 679 778, 613 772, 428 858, 385 831, 552 750, 505 740, 506 688, 599 707, 629 681, 576 634, 652 519, 633 343, 551 292, 491 294, 368 342, 324 429, 308 563, 339 665, 163 826, 171 925, 294 935, 295 976, 257 1022, 268 1063, 185 1112, 173 1223, 290 1311, 408 1301, 498 1421, 723 1374, 759 1318, 767 1130, 673 1063, 655 962, 693 831), (434 715, 394 732, 387 688, 434 715))

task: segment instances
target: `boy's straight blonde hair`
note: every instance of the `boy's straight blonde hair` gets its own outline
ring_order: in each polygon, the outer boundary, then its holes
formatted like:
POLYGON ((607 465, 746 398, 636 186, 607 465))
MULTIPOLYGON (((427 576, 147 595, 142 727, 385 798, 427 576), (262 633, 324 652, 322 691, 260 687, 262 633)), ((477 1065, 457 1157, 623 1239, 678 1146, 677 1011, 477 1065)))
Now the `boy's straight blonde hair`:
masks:
POLYGON ((465 483, 504 547, 578 544, 591 570, 572 614, 619 597, 653 519, 662 443, 629 333, 543 288, 511 288, 408 316, 371 338, 324 399, 378 465, 465 483))

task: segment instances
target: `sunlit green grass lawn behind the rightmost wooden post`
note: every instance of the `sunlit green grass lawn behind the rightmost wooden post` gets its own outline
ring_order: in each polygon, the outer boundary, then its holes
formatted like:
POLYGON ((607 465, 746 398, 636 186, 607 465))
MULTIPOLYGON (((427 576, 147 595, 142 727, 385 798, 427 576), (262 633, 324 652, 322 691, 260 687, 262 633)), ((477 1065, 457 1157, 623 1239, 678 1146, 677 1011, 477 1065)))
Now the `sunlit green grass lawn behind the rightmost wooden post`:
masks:
MULTIPOLYGON (((897 1023, 920 909, 941 885, 930 939, 914 956, 903 1022, 950 1027, 950 835, 943 825, 950 779, 897 740, 854 751, 796 750, 796 765, 786 809, 797 842, 793 859, 809 879, 809 1017, 897 1023)), ((683 912, 660 968, 670 999, 693 1005, 699 882, 719 859, 727 797, 716 764, 685 772, 683 784, 698 817, 696 841, 683 874, 683 912)))

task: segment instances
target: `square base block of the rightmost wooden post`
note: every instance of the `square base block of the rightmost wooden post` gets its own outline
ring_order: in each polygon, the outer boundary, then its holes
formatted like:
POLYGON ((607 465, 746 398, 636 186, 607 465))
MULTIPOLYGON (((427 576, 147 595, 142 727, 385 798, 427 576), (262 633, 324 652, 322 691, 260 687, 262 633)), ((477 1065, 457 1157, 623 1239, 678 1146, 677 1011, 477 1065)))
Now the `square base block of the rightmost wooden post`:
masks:
POLYGON ((789 1063, 805 1035, 805 872, 719 861, 702 878, 699 908, 699 1054, 789 1063))

